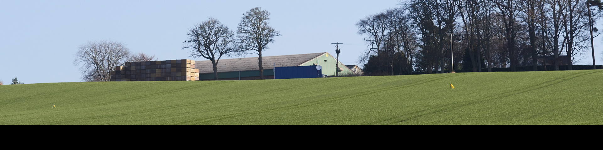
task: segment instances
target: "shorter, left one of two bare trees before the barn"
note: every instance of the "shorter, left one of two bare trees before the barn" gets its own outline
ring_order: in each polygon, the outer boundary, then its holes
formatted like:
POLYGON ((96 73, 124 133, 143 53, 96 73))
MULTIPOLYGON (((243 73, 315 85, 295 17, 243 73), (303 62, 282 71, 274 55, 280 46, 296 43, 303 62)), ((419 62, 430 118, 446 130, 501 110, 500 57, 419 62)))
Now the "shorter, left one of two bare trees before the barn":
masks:
POLYGON ((213 65, 213 79, 218 80, 219 59, 236 52, 235 32, 218 19, 210 17, 209 20, 191 28, 187 35, 189 39, 185 43, 188 45, 184 48, 193 49, 191 56, 194 58, 209 59, 213 65))

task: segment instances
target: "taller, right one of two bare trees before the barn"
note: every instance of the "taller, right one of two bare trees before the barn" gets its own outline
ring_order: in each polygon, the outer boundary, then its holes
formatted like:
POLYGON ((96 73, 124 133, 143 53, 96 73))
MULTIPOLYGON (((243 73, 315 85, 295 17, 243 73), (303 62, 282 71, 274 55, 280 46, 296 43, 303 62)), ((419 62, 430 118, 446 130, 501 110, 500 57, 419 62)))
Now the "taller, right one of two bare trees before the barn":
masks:
POLYGON ((274 42, 274 37, 280 36, 279 31, 268 26, 270 12, 260 7, 251 8, 241 18, 236 33, 239 34, 239 50, 242 54, 257 53, 260 79, 264 79, 264 67, 262 67, 262 51, 268 49, 268 43, 274 42))

